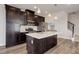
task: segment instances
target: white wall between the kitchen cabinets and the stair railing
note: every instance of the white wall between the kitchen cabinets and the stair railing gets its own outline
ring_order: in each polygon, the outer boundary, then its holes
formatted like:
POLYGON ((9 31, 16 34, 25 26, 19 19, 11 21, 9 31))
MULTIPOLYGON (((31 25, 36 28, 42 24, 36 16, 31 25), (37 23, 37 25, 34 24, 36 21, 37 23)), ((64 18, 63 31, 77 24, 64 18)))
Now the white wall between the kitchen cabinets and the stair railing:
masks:
POLYGON ((54 13, 51 19, 46 18, 46 22, 52 22, 53 24, 55 24, 55 30, 57 30, 57 32, 59 33, 58 37, 70 39, 71 33, 67 29, 67 21, 68 14, 64 11, 54 13), (54 16, 57 16, 58 19, 55 20, 54 16))

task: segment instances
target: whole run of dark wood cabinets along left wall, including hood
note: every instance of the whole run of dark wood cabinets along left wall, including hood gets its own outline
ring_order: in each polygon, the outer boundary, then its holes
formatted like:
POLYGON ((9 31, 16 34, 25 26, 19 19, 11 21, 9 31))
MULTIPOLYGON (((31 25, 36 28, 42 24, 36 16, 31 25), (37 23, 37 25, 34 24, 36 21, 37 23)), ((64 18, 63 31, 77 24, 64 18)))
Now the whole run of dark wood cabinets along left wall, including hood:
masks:
POLYGON ((32 23, 36 26, 39 25, 38 22, 44 21, 44 18, 40 21, 39 18, 35 19, 34 11, 26 9, 24 12, 21 11, 19 8, 5 5, 6 9, 6 47, 15 46, 19 43, 25 41, 25 37, 23 38, 24 34, 20 33, 20 26, 27 25, 28 20, 31 20, 32 23), (21 36, 22 35, 22 36, 21 36), (18 38, 23 38, 21 39, 18 38))

